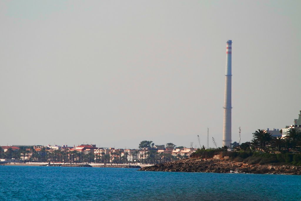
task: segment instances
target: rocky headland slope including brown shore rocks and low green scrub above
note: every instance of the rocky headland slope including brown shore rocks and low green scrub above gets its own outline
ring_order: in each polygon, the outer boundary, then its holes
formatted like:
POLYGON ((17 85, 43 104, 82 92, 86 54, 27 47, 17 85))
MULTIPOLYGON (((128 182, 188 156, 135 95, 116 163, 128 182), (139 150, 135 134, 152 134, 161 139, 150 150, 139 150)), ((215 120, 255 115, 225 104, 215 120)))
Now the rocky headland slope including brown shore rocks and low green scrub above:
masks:
POLYGON ((214 172, 301 175, 300 154, 198 150, 192 158, 157 164, 141 171, 214 172))

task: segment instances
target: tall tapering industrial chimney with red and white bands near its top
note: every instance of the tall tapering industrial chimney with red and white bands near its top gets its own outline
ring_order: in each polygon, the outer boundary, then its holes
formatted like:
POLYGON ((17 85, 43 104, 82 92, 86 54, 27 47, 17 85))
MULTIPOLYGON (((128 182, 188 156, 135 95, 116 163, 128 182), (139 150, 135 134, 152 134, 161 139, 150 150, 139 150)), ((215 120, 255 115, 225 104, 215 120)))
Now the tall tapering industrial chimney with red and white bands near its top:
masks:
POLYGON ((223 125, 223 146, 230 148, 231 140, 231 53, 232 40, 227 40, 226 50, 226 78, 225 78, 225 104, 224 104, 224 125, 223 125))

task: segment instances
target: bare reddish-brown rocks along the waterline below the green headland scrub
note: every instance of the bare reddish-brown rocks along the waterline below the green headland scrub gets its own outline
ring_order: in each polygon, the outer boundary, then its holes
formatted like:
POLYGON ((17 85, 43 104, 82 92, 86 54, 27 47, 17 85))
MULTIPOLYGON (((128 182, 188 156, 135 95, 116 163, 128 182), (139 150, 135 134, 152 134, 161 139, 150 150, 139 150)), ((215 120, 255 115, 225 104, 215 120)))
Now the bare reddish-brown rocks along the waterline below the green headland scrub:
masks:
POLYGON ((141 168, 140 171, 214 172, 253 174, 298 174, 301 167, 293 165, 249 165, 220 159, 184 159, 141 168))

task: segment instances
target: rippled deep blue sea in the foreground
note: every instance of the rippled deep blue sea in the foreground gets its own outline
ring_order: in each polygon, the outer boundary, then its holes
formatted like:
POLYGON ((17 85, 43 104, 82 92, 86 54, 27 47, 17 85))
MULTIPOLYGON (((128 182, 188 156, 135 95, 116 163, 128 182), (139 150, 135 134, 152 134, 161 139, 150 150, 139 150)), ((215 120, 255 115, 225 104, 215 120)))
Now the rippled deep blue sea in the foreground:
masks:
POLYGON ((300 175, 0 166, 0 200, 301 200, 300 175))

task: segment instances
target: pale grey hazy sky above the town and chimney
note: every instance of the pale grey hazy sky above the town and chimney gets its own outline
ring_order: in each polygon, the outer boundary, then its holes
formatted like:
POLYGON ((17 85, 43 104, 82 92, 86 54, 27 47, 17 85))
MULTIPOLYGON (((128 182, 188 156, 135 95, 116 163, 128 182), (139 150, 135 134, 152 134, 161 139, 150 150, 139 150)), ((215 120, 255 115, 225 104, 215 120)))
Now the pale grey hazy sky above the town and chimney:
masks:
POLYGON ((0 1, 0 145, 222 146, 301 110, 301 1, 0 1))

